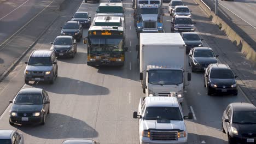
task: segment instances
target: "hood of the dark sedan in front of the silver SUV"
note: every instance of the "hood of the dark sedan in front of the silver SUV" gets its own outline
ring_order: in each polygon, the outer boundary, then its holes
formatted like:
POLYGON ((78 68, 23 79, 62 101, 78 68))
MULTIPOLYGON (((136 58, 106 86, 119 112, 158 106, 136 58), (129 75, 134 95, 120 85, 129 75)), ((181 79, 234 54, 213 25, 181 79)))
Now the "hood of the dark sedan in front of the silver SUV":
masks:
POLYGON ((43 105, 19 105, 13 104, 11 111, 14 112, 40 112, 43 109, 43 105))

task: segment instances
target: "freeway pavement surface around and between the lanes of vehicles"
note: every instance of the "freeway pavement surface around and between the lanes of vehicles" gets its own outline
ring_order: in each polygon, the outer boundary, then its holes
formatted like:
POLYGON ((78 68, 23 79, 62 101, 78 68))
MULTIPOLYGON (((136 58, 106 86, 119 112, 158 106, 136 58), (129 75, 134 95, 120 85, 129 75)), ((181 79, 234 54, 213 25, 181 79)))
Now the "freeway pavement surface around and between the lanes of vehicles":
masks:
MULTIPOLYGON (((197 22, 196 29, 205 39, 203 45, 212 47, 220 55, 220 62, 230 63, 230 61, 236 62, 241 59, 247 62, 224 33, 218 31, 217 26, 212 25, 193 0, 184 2, 193 11, 193 20, 197 22)), ((0 116, 0 129, 18 130, 24 134, 26 143, 31 144, 57 144, 63 139, 71 138, 94 139, 100 143, 138 143, 138 120, 132 118, 132 112, 137 111, 139 98, 144 94, 139 82, 139 65, 135 50, 137 35, 133 26, 132 4, 130 0, 124 0, 123 3, 126 11, 125 45, 128 47, 124 67, 89 67, 86 65, 87 46, 80 41, 75 58, 58 59, 59 74, 53 85, 43 82, 24 85, 26 67, 24 62, 30 55, 28 53, 0 83, 0 98, 5 99, 0 102, 8 105, 8 101, 14 98, 20 88, 43 88, 49 93, 51 113, 46 117, 45 125, 13 127, 8 122, 10 105, 7 109, 0 107, 4 111, 0 116)), ((98 3, 90 1, 86 4, 82 2, 79 11, 89 11, 93 18, 97 5, 98 3)), ((166 8, 167 4, 164 3, 164 5, 166 8)), ((71 18, 78 7, 69 9, 65 15, 59 17, 39 39, 33 50, 49 49, 50 42, 60 34, 59 27, 71 18)), ((165 32, 170 32, 170 20, 170 16, 164 16, 165 32)), ((84 36, 87 32, 88 29, 85 28, 84 36)), ((244 67, 246 65, 241 64, 239 68, 234 69, 238 71, 244 67)), ((251 66, 251 68, 255 70, 254 67, 251 66)), ((191 71, 189 67, 188 69, 191 71)), ((249 69, 243 70, 249 71, 249 69)), ((228 143, 226 135, 220 130, 222 113, 229 103, 246 102, 247 99, 240 91, 237 96, 208 96, 206 88, 203 87, 202 76, 203 73, 192 73, 190 85, 185 89, 182 105, 184 115, 189 111, 194 112, 195 115, 194 119, 185 121, 189 133, 188 143, 228 143)), ((255 79, 253 74, 246 74, 246 76, 251 76, 249 77, 251 80, 255 79)))

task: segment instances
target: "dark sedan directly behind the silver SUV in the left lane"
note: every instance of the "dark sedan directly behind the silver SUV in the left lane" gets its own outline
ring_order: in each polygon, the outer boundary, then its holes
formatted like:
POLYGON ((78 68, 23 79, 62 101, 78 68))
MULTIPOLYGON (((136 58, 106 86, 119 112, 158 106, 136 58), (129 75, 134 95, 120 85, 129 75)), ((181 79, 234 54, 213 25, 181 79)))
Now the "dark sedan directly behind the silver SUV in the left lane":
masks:
POLYGON ((60 35, 51 43, 57 57, 72 57, 77 53, 77 42, 72 36, 60 35))

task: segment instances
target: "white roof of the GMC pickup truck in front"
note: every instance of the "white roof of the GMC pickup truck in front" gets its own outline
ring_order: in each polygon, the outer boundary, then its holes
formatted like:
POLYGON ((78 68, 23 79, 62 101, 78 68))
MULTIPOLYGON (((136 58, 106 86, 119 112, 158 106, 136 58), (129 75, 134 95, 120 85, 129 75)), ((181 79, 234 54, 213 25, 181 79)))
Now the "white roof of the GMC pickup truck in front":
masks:
POLYGON ((147 107, 179 107, 179 102, 176 97, 146 97, 145 99, 147 100, 147 107))

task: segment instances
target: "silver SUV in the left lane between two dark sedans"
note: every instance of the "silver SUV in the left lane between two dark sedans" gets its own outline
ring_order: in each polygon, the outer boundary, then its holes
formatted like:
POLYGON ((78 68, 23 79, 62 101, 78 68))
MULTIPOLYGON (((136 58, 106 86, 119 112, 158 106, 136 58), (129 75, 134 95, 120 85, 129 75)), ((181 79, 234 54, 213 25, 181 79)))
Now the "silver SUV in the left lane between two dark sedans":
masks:
POLYGON ((24 71, 25 83, 48 81, 54 83, 58 75, 58 65, 53 50, 35 50, 31 53, 24 71))

